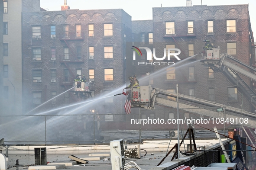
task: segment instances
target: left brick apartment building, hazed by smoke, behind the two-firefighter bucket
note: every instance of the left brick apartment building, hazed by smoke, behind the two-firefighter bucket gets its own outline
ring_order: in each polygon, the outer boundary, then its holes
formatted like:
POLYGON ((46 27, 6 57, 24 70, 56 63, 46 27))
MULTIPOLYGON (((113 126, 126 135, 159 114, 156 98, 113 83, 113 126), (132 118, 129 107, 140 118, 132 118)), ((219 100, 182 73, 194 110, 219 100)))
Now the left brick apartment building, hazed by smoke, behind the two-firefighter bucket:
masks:
MULTIPOLYGON (((68 9, 64 5, 61 11, 23 13, 24 112, 70 89, 77 74, 92 82, 92 96, 115 90, 126 81, 125 45, 131 38, 131 16, 122 9, 68 9)), ((80 100, 69 92, 46 105, 80 100)), ((123 105, 124 101, 110 98, 97 111, 123 114, 123 105)))

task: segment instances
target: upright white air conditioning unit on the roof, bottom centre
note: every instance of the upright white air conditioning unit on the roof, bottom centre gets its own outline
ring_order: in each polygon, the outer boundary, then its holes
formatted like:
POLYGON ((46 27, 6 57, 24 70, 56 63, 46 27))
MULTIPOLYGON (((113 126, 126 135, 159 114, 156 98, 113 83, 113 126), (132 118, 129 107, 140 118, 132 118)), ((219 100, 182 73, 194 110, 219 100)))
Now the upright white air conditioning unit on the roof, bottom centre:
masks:
POLYGON ((112 170, 123 170, 125 165, 123 139, 110 141, 110 156, 112 170))

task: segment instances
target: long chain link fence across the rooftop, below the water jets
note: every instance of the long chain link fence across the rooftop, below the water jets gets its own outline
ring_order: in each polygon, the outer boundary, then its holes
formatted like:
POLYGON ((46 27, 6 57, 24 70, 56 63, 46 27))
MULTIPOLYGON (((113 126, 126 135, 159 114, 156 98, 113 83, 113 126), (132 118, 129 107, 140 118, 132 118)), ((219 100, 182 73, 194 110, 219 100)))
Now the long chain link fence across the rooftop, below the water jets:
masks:
MULTIPOLYGON (((133 113, 94 115, 0 116, 0 138, 7 144, 100 144, 116 139, 142 142, 145 139, 183 137, 191 123, 196 138, 216 138, 213 130, 228 135, 228 129, 244 124, 241 115, 225 108, 133 109, 133 113), (206 116, 206 112, 208 115, 206 116), (178 116, 179 115, 179 116, 178 116), (230 122, 226 115, 237 117, 230 122)), ((245 117, 243 117, 243 120, 245 117)), ((188 135, 187 137, 188 138, 188 135)))

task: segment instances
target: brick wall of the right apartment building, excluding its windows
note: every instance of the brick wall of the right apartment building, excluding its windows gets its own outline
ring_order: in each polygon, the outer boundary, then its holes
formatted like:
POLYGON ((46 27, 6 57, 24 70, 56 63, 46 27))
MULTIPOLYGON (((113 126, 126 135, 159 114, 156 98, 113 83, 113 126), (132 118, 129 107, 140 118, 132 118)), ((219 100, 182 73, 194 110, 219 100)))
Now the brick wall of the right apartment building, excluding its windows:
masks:
MULTIPOLYGON (((172 66, 175 67, 175 78, 167 78, 166 69, 168 65, 152 66, 154 67, 153 72, 162 69, 162 71, 160 71, 162 74, 155 74, 153 87, 175 90, 176 83, 178 83, 179 93, 190 95, 189 90, 194 89, 194 97, 205 100, 210 99, 209 89, 214 89, 214 101, 226 105, 235 105, 239 108, 241 107, 242 94, 240 92, 237 93, 237 100, 228 99, 228 88, 235 87, 235 85, 221 72, 215 72, 214 77, 209 78, 207 66, 202 65, 201 62, 196 60, 201 59, 202 55, 200 53, 204 46, 203 40, 207 39, 214 44, 214 47, 219 46, 221 53, 227 53, 227 43, 235 42, 236 54, 232 56, 246 64, 255 62, 255 49, 254 46, 252 46, 254 43, 252 30, 250 28, 248 5, 156 7, 153 8, 152 25, 150 26, 149 23, 150 21, 133 21, 133 33, 134 37, 136 37, 135 42, 140 42, 140 33, 153 32, 153 45, 149 48, 156 48, 156 56, 158 58, 163 56, 163 49, 166 48, 166 45, 175 45, 175 48, 181 50, 181 54, 178 55, 178 57, 181 58, 180 63, 176 58, 171 58, 171 61, 175 62, 175 65, 172 66), (227 20, 235 20, 236 31, 227 32, 227 20), (189 32, 188 22, 191 21, 193 22, 193 30, 189 32), (211 33, 207 32, 208 21, 213 21, 213 32, 211 33), (175 23, 175 33, 173 32, 172 35, 166 33, 166 22, 175 23), (149 26, 143 28, 141 25, 144 23, 149 26), (149 28, 152 28, 152 30, 149 28), (184 60, 188 58, 188 56, 191 56, 189 55, 189 44, 194 46, 194 54, 192 55, 198 55, 189 60, 184 60), (194 68, 194 78, 191 78, 189 75, 189 67, 194 68)), ((154 62, 155 61, 156 60, 154 60, 154 62)), ((149 61, 146 60, 145 62, 149 63, 149 61)), ((137 74, 143 72, 145 67, 146 66, 140 67, 141 70, 138 71, 137 74)), ((147 67, 151 66, 148 65, 147 67)), ((240 67, 243 66, 240 65, 240 67)), ((248 70, 245 67, 243 68, 248 70)), ((143 74, 144 73, 139 74, 139 76, 142 78, 143 74)), ((151 77, 153 78, 153 76, 154 74, 151 72, 151 77)), ((243 75, 241 77, 251 88, 254 88, 252 87, 253 81, 243 75)), ((254 108, 247 102, 248 100, 250 99, 243 96, 243 109, 254 111, 254 108)))

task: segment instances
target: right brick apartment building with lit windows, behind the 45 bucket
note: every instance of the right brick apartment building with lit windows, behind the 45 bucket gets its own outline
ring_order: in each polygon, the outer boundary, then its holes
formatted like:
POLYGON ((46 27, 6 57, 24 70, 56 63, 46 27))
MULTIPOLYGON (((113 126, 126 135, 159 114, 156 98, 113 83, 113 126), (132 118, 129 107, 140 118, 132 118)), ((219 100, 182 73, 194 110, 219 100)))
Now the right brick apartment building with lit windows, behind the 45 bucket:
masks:
MULTIPOLYGON (((136 62, 131 58, 127 61, 127 64, 133 67, 128 74, 137 74, 137 77, 143 78, 147 72, 150 72, 152 75, 150 79, 153 79, 150 80, 152 87, 176 92, 178 83, 179 93, 238 108, 241 108, 243 103, 243 109, 254 112, 255 108, 248 102, 250 99, 244 95, 242 99, 242 92, 238 90, 239 87, 236 84, 230 82, 221 72, 214 72, 211 68, 202 65, 200 61, 196 61, 201 60, 203 40, 206 39, 214 47, 219 46, 221 53, 232 55, 243 63, 255 65, 255 45, 248 4, 156 7, 153 8, 152 15, 152 20, 132 22, 134 43, 131 42, 131 44, 149 47, 151 50, 156 48, 158 58, 164 55, 164 48, 180 49, 181 54, 178 57, 181 60, 198 55, 183 61, 182 64, 178 64, 178 60, 171 57, 175 65, 165 69, 168 67, 166 64, 165 66, 144 64, 138 67, 138 61, 145 63, 156 61, 155 59, 146 60, 146 54, 144 54, 143 58, 136 57, 136 62), (161 69, 163 69, 162 74, 153 76, 153 72, 161 69)), ((141 51, 146 53, 146 50, 141 51)), ((164 61, 169 62, 167 58, 164 61)), ((243 75, 241 77, 255 91, 255 82, 243 75)), ((155 112, 150 114, 150 118, 169 119, 175 118, 175 115, 176 113, 163 111, 162 116, 155 112)), ((148 116, 145 114, 142 118, 148 116)), ((185 116, 189 117, 189 113, 185 113, 185 116)))

